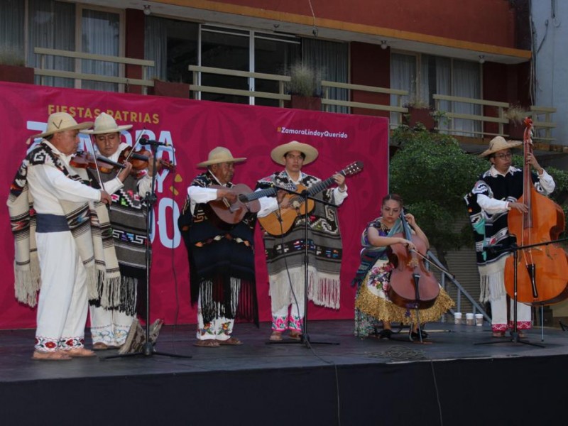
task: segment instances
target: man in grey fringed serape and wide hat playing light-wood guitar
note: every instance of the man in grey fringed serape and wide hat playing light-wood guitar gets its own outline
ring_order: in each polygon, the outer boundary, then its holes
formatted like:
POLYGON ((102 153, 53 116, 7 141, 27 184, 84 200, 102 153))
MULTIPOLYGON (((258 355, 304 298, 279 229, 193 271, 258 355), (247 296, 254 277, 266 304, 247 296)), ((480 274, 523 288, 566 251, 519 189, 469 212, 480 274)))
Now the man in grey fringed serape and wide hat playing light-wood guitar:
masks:
MULTIPOLYGON (((317 149, 307 143, 297 141, 284 143, 271 151, 275 163, 284 165, 284 170, 275 172, 257 182, 257 189, 276 187, 310 188, 322 182, 321 179, 302 172, 302 167, 312 163, 317 158, 317 149)), ((342 237, 339 232, 337 209, 347 197, 345 176, 333 176, 337 187, 324 190, 319 195, 325 202, 333 206, 315 203, 315 209, 310 213, 308 239, 313 242, 309 249, 309 281, 311 291, 308 298, 316 305, 339 308, 339 271, 342 258, 342 237), (317 249, 316 249, 317 247, 317 249)), ((286 192, 278 192, 280 209, 296 208, 298 203, 286 192), (290 201, 293 203, 290 205, 290 201)), ((278 214, 275 210, 258 212, 258 217, 268 214, 278 214)), ((305 275, 304 275, 304 246, 305 228, 302 217, 294 217, 290 231, 283 237, 264 233, 264 247, 270 282, 272 334, 273 341, 282 340, 282 334, 290 330, 290 338, 300 339, 302 320, 304 317, 305 275)))

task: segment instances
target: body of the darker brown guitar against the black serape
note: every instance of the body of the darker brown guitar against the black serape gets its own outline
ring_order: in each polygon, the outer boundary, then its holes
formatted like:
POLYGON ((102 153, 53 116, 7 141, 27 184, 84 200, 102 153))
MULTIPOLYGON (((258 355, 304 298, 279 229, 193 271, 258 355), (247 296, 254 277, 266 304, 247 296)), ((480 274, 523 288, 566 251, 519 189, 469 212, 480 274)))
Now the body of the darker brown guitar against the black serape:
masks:
POLYGON ((209 188, 215 190, 230 190, 237 196, 236 201, 233 203, 229 202, 229 200, 224 197, 221 200, 207 202, 207 217, 221 228, 226 227, 226 225, 238 224, 243 220, 245 214, 256 213, 261 209, 261 203, 258 200, 245 200, 245 202, 243 202, 241 197, 239 197, 239 195, 252 192, 251 188, 244 185, 244 183, 239 183, 230 188, 221 185, 211 185, 209 188))

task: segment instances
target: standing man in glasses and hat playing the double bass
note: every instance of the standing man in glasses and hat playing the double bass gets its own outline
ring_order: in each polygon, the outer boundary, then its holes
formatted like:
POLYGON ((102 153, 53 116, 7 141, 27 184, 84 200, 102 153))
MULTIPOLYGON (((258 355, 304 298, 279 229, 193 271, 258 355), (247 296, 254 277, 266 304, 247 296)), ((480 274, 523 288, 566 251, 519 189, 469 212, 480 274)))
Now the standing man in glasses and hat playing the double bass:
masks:
MULTIPOLYGON (((528 207, 518 202, 523 195, 523 170, 511 165, 511 148, 521 144, 520 141, 506 141, 501 136, 493 138, 489 148, 480 155, 489 159, 491 168, 479 177, 474 189, 465 197, 476 239, 480 300, 491 303, 493 337, 505 337, 506 330, 513 328, 513 320, 507 321, 504 274, 506 258, 511 254, 506 249, 515 242, 508 231, 508 211, 528 212, 528 207)), ((535 189, 549 195, 555 190, 554 179, 532 153, 527 154, 527 162, 537 172, 531 174, 535 189)), ((510 305, 510 312, 513 312, 513 300, 510 305)), ((517 314, 517 329, 519 337, 523 338, 523 330, 531 327, 530 306, 518 303, 517 314)))

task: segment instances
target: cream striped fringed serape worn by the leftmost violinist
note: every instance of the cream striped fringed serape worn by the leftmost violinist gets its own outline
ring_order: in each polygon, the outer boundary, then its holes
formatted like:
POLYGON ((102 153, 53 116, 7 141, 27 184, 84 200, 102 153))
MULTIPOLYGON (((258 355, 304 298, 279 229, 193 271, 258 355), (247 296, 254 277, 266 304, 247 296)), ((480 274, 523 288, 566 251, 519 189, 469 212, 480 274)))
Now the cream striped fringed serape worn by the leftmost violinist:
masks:
MULTIPOLYGON (((8 198, 8 209, 15 241, 14 290, 16 300, 34 307, 40 290, 40 266, 35 246, 35 210, 28 190, 28 168, 46 164, 58 168, 67 178, 88 182, 85 170, 67 168, 45 143, 39 143, 21 163, 16 172, 8 198)), ((112 306, 119 300, 118 294, 111 294, 120 281, 119 266, 112 244, 109 214, 102 202, 76 203, 60 201, 67 225, 71 231, 84 268, 87 271, 89 298, 99 297, 102 289, 102 305, 112 306)))

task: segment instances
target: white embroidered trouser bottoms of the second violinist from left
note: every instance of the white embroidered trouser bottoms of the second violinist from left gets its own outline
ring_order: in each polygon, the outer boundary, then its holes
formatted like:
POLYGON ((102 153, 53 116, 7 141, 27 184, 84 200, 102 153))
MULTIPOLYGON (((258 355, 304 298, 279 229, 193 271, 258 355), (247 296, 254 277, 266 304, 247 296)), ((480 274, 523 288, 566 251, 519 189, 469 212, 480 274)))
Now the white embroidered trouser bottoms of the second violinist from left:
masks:
POLYGON ((126 342, 133 315, 126 315, 119 310, 107 310, 104 307, 89 306, 91 314, 91 337, 93 344, 104 343, 107 346, 121 346, 126 342))

